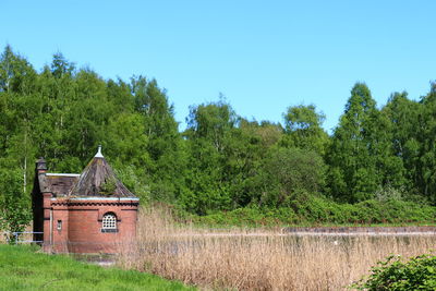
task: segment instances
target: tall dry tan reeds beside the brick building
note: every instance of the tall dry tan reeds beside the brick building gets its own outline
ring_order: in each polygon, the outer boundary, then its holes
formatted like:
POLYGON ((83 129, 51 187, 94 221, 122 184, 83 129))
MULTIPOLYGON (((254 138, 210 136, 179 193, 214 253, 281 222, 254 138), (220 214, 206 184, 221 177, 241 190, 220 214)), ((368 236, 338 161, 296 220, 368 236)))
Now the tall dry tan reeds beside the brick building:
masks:
POLYGON ((137 243, 119 264, 202 289, 341 290, 389 254, 427 253, 435 237, 296 237, 263 230, 206 231, 142 209, 137 243))

